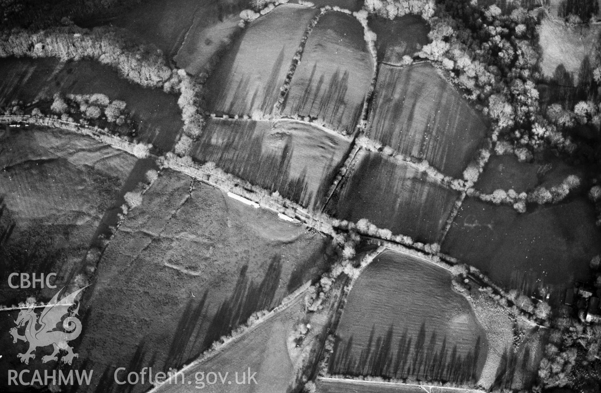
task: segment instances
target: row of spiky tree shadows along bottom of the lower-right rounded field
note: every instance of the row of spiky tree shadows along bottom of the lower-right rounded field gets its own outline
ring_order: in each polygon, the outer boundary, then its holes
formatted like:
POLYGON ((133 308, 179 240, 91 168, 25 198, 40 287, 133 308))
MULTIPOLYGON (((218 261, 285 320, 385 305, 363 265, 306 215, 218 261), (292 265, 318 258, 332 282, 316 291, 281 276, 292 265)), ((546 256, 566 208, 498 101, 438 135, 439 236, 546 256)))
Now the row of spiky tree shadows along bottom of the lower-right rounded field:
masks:
POLYGON ((451 347, 447 337, 442 337, 441 340, 436 331, 427 334, 425 323, 422 323, 415 335, 410 335, 405 329, 396 346, 393 343, 392 325, 385 335, 377 338, 374 336, 375 325, 371 329, 367 346, 361 350, 358 357, 354 353, 356 351, 353 351, 352 336, 346 343, 337 338, 328 365, 329 373, 460 384, 475 383, 478 380, 480 337, 468 353, 461 355, 457 344, 451 347))

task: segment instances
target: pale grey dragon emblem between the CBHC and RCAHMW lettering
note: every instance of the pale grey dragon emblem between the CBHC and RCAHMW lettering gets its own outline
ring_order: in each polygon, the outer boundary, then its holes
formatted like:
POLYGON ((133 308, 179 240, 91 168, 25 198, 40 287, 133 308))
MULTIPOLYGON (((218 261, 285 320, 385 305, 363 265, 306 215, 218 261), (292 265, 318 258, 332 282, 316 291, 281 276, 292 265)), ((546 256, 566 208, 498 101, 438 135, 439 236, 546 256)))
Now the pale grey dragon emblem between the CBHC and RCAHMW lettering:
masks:
POLYGON ((37 347, 46 347, 49 345, 52 345, 54 351, 52 352, 52 355, 42 356, 41 361, 43 363, 58 361, 56 354, 61 349, 67 351, 67 355, 64 355, 63 358, 61 358, 64 363, 71 364, 73 358, 79 357, 77 353, 73 353, 73 347, 70 347, 69 344, 67 344, 67 341, 75 340, 81 333, 81 321, 75 317, 78 315, 79 301, 77 302, 77 308, 70 313, 69 308, 74 304, 75 298, 79 295, 79 292, 85 288, 86 287, 76 290, 59 301, 58 295, 63 292, 64 287, 61 288, 46 307, 44 307, 39 320, 34 311, 34 304, 31 304, 25 310, 20 311, 17 320, 14 321, 17 327, 10 329, 9 332, 13 336, 13 343, 16 343, 17 340, 29 343, 27 352, 19 353, 19 355, 17 355, 17 358, 20 358, 21 362, 29 364, 29 359, 35 359, 34 352, 37 347), (63 319, 63 316, 67 313, 69 313, 69 316, 63 320, 63 328, 67 332, 55 330, 56 325, 61 322, 61 319, 63 319), (41 325, 41 327, 36 329, 36 326, 38 325, 41 325), (21 326, 25 326, 25 335, 20 335, 17 331, 21 326))

